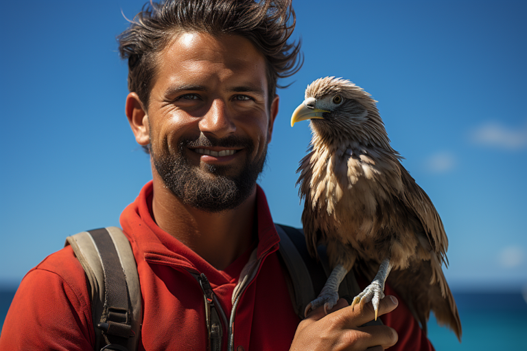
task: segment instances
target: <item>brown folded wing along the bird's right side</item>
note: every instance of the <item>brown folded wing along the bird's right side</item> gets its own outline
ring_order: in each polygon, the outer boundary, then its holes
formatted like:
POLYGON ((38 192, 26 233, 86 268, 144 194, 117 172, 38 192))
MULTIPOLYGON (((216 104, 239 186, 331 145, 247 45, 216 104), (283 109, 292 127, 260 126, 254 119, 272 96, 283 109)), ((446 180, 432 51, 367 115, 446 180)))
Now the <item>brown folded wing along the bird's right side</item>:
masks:
POLYGON ((401 200, 419 218, 421 225, 423 225, 423 234, 427 236, 432 250, 441 256, 441 260, 447 264, 448 239, 436 207, 434 207, 425 191, 410 176, 410 173, 403 166, 400 167, 404 191, 403 199, 401 200))

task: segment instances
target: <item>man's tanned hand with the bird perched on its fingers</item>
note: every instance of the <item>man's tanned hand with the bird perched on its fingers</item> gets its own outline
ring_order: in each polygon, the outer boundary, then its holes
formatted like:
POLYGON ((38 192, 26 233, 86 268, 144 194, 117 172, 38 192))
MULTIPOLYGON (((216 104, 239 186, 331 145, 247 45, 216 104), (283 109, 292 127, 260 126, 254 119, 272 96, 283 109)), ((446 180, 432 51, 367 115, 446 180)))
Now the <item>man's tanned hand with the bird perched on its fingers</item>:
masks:
MULTIPOLYGON (((379 303, 379 315, 397 307, 397 299, 386 296, 379 303)), ((332 313, 325 315, 323 306, 309 313, 298 324, 290 351, 300 350, 366 350, 382 351, 397 342, 397 332, 388 326, 365 326, 375 318, 371 302, 349 307, 338 300, 332 313)))

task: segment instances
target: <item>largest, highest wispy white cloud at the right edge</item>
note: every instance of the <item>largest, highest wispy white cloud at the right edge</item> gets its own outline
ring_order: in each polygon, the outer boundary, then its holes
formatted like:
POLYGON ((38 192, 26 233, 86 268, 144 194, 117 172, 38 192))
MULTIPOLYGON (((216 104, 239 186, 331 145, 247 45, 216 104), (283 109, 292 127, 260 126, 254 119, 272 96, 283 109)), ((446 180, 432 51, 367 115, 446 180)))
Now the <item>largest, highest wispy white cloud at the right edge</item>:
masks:
POLYGON ((476 145, 519 150, 527 147, 527 124, 521 128, 511 128, 489 122, 472 131, 470 137, 476 145))

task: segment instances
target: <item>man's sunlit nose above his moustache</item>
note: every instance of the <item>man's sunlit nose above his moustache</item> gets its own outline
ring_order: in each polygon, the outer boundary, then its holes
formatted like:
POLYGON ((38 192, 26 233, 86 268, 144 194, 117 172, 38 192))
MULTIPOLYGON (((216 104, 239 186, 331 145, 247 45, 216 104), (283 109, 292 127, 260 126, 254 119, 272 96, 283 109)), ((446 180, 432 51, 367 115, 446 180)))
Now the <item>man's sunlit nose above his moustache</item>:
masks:
POLYGON ((225 137, 236 131, 233 123, 233 116, 229 113, 223 100, 216 99, 212 102, 211 108, 200 120, 200 131, 214 135, 217 138, 225 137))

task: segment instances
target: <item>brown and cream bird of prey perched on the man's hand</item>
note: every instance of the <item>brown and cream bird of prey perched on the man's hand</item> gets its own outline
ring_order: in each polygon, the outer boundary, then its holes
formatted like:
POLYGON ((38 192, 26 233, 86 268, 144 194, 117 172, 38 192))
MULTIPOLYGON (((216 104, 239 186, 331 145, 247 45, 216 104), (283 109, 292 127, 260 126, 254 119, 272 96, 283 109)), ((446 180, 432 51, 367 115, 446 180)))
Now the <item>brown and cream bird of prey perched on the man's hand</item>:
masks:
POLYGON ((353 269, 371 284, 352 308, 371 301, 377 319, 388 280, 425 333, 432 310, 461 341, 458 308, 442 269, 448 266, 443 223, 390 146, 376 103, 350 80, 325 77, 307 86, 292 114, 291 126, 309 120, 312 131, 297 170, 307 249, 317 256, 317 247, 326 245, 333 269, 305 314, 318 306, 327 313, 353 269))

